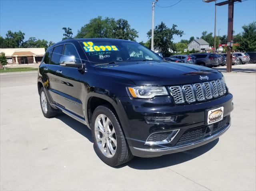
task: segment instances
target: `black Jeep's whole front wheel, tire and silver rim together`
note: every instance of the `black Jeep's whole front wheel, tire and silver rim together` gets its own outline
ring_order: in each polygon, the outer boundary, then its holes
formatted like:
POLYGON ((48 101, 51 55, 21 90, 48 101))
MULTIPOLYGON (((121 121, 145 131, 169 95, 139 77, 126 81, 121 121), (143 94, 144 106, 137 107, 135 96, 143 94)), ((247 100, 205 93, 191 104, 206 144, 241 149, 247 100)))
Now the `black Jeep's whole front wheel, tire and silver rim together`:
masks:
POLYGON ((94 150, 97 156, 107 165, 121 165, 134 157, 116 114, 109 105, 101 105, 94 110, 91 129, 94 150), (103 120, 106 124, 105 127, 103 120))

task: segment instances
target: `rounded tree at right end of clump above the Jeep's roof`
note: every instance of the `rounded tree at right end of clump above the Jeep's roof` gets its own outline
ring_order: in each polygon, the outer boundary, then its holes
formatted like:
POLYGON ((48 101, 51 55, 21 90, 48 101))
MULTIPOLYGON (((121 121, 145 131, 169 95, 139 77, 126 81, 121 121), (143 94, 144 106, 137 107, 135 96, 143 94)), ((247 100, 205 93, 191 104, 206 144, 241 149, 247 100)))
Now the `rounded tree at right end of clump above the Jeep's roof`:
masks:
POLYGON ((113 29, 113 37, 117 39, 126 39, 135 41, 138 36, 138 31, 131 29, 127 20, 118 19, 113 29))

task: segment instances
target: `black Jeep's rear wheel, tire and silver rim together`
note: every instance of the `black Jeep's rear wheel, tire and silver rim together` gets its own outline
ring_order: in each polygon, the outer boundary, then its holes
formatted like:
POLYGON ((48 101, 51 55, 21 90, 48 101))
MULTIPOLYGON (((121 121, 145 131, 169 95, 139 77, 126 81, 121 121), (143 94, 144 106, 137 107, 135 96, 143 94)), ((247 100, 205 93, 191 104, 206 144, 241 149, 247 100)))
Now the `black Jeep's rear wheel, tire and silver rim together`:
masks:
POLYGON ((54 116, 57 116, 59 113, 57 109, 52 108, 52 106, 50 105, 43 87, 40 89, 40 105, 42 112, 46 118, 52 118, 54 116))

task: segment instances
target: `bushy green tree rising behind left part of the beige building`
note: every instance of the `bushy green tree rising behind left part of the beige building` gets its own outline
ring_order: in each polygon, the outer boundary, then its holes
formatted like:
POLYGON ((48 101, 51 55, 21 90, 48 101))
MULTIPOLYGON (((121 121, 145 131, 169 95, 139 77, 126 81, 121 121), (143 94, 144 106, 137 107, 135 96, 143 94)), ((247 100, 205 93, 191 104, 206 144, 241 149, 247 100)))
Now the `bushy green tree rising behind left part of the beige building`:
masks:
POLYGON ((6 33, 5 38, 5 46, 6 48, 18 48, 22 45, 24 40, 25 33, 19 32, 12 32, 8 30, 6 33))

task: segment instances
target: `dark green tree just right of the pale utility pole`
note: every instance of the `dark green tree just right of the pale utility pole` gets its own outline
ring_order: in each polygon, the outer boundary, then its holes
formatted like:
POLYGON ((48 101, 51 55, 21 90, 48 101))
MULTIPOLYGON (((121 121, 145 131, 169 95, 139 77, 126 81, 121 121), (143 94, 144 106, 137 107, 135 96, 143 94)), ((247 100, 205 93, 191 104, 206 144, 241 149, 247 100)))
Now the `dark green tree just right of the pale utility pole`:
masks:
MULTIPOLYGON (((159 48, 164 57, 169 57, 175 51, 176 46, 173 43, 173 35, 179 35, 182 37, 184 32, 177 29, 177 25, 172 25, 172 28, 168 28, 163 22, 157 25, 154 29, 154 48, 159 48)), ((147 33, 151 42, 151 30, 147 33)))

